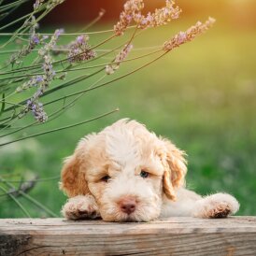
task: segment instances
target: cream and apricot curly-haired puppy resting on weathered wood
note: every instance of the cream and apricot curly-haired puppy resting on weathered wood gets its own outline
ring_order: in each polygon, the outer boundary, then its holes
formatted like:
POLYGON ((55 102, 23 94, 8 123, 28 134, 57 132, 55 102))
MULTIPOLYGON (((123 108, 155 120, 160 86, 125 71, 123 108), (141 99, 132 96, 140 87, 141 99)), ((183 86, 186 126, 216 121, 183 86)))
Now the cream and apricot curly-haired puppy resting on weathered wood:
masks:
POLYGON ((239 204, 232 195, 202 197, 185 189, 184 155, 137 121, 123 119, 87 135, 64 161, 60 187, 69 199, 62 213, 71 220, 106 221, 235 214, 239 204))

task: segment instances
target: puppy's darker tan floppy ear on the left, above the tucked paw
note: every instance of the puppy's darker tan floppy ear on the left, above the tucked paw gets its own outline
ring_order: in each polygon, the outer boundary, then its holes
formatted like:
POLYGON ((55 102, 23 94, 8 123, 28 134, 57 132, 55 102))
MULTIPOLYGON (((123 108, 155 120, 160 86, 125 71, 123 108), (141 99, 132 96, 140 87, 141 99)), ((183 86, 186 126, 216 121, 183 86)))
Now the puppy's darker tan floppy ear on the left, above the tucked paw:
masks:
POLYGON ((60 188, 64 190, 68 197, 90 193, 85 179, 84 143, 84 141, 81 141, 74 154, 64 161, 60 188))

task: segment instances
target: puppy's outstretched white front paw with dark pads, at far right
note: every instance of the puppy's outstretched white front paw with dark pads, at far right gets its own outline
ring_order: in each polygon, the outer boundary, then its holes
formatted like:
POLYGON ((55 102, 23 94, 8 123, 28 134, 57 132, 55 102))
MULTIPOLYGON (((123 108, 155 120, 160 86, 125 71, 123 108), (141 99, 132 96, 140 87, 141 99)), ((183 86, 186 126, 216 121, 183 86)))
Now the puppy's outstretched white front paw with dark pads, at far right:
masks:
POLYGON ((239 203, 228 193, 216 193, 196 202, 193 216, 198 218, 225 218, 235 214, 239 203))

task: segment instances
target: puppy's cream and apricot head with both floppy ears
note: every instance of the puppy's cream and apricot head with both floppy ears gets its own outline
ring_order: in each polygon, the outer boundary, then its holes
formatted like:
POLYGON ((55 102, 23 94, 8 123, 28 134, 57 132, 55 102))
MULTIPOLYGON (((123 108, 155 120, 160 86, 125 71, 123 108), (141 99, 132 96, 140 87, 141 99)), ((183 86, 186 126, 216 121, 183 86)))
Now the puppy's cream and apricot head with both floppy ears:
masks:
POLYGON ((183 184, 183 152, 136 121, 121 120, 83 138, 66 159, 61 188, 69 197, 92 194, 103 220, 149 221, 164 196, 183 184))

